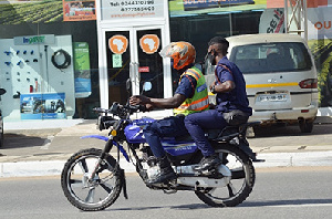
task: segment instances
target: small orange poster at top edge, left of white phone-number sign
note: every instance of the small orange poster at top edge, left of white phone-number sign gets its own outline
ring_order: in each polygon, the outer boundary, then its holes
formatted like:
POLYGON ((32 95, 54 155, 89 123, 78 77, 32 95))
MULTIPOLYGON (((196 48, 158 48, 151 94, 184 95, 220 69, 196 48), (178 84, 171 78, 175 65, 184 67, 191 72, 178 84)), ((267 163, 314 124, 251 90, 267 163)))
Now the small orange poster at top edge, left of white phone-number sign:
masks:
POLYGON ((95 1, 63 0, 63 21, 89 21, 96 20, 95 1))

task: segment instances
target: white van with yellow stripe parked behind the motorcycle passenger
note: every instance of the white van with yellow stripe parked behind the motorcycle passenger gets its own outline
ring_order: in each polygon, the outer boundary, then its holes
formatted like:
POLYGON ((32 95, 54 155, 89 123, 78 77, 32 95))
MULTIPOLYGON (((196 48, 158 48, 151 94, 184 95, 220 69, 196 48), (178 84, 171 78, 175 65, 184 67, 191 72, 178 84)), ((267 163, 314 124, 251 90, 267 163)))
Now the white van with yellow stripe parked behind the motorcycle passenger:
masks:
POLYGON ((242 71, 249 121, 261 125, 299 124, 311 133, 318 113, 318 79, 314 61, 300 35, 273 33, 227 38, 228 59, 242 71))

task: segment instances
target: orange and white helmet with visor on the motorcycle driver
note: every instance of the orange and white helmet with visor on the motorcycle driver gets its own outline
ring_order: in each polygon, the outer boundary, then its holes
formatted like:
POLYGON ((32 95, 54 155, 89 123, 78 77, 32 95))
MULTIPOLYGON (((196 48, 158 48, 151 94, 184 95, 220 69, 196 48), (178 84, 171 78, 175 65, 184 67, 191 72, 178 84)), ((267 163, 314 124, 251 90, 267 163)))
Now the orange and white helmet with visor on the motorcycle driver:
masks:
POLYGON ((173 67, 180 70, 195 62, 195 48, 188 42, 173 42, 165 46, 160 52, 160 56, 173 59, 173 67))

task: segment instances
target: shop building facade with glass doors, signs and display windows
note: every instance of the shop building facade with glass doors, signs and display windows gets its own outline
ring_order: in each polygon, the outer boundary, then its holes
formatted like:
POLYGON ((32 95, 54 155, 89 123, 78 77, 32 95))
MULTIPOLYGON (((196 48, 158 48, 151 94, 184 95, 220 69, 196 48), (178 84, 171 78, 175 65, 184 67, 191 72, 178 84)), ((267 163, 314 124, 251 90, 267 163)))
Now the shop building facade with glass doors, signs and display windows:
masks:
MULTIPOLYGON (((203 62, 215 35, 284 32, 284 0, 0 0, 0 107, 4 121, 94 118, 129 93, 168 97, 177 75, 158 52, 188 41, 203 62), (131 79, 132 91, 126 91, 131 79)), ((308 1, 308 44, 320 113, 332 106, 331 0, 308 1)))

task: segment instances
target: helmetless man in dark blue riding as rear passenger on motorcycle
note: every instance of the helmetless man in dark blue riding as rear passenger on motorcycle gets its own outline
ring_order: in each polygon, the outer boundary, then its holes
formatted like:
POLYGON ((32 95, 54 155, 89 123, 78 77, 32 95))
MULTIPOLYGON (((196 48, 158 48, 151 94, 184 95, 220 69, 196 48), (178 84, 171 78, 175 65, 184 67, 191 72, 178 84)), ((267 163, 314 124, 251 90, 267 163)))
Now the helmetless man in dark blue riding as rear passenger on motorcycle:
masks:
POLYGON ((206 61, 216 65, 216 80, 209 88, 217 94, 217 106, 185 118, 189 134, 204 155, 199 166, 194 168, 197 171, 209 170, 220 164, 218 155, 205 136, 204 128, 222 129, 227 125, 246 123, 252 111, 249 107, 242 72, 226 58, 229 42, 221 36, 215 36, 208 45, 206 61))

